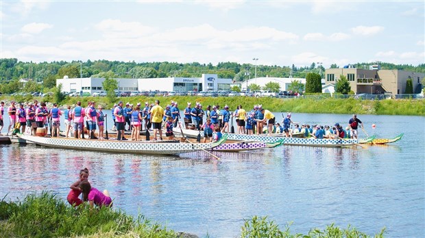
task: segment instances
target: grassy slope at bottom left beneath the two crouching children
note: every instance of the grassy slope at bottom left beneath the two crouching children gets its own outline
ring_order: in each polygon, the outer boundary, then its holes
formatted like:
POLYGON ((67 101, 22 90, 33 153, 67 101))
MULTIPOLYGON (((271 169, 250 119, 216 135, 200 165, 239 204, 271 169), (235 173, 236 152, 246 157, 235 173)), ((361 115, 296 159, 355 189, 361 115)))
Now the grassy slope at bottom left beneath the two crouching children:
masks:
POLYGON ((173 230, 143 216, 134 221, 122 211, 108 207, 93 210, 86 204, 74 209, 47 192, 29 194, 22 202, 3 200, 0 215, 8 220, 2 222, 0 234, 5 237, 105 237, 104 233, 110 237, 127 233, 134 237, 176 237, 173 230))

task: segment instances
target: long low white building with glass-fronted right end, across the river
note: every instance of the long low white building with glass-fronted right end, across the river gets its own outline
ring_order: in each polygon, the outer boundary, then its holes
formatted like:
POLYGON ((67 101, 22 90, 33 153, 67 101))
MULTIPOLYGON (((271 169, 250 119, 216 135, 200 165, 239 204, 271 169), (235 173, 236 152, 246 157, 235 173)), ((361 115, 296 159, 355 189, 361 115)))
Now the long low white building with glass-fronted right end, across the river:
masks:
MULTIPOLYGON (((104 90, 104 78, 75 78, 56 79, 56 86, 62 84, 62 92, 97 92, 104 90)), ((168 77, 153 79, 115 79, 119 91, 218 91, 230 90, 232 79, 219 79, 217 75, 203 74, 200 78, 168 77)))

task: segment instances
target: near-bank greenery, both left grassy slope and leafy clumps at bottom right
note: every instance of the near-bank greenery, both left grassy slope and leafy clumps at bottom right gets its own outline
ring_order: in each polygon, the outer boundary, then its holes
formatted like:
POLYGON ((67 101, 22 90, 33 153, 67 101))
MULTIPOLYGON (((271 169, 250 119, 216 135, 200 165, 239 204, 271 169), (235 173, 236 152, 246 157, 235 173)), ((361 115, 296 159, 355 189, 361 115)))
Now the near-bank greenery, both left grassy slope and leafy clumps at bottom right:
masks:
MULTIPOLYGON (((117 209, 74 209, 53 194, 27 195, 19 202, 0 201, 2 237, 189 237, 176 233, 142 215, 134 219, 117 209)), ((289 225, 281 230, 267 217, 252 217, 241 224, 241 237, 369 237, 351 226, 331 224, 324 230, 311 229, 307 235, 291 234, 289 225)), ((383 230, 375 237, 383 237, 383 230)))

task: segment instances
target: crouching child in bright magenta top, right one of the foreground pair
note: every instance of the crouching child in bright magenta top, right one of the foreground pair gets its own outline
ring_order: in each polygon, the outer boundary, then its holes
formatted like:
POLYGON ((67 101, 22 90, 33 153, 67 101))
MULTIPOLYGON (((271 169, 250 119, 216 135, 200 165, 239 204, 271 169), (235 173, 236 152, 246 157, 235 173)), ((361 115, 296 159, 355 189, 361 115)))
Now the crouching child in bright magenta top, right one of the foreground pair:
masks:
POLYGON ((104 190, 104 193, 95 189, 95 187, 91 187, 88 181, 82 181, 80 183, 80 188, 83 194, 83 201, 88 201, 90 207, 112 207, 112 199, 109 196, 108 190, 104 190))

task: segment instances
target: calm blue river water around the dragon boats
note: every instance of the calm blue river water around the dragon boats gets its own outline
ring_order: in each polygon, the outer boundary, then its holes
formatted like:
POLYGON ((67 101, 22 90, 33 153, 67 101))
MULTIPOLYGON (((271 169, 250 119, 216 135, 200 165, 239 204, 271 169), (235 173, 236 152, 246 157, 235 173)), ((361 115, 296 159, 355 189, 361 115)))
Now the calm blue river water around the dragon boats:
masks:
MULTIPOLYGON (((275 114, 282 120, 280 113, 275 114)), ((294 114, 309 124, 347 124, 350 115, 294 114)), ((48 190, 66 200, 80 169, 108 189, 114 209, 199 236, 236 237, 244 219, 268 215, 283 229, 308 233, 334 222, 373 235, 425 236, 425 117, 359 115, 388 146, 280 146, 247 153, 161 157, 0 146, 0 197, 48 190), (376 124, 376 129, 371 125, 376 124)), ((109 122, 110 123, 110 122, 109 122)), ((111 124, 111 123, 110 123, 111 124)), ((364 137, 363 131, 359 131, 364 137)))

